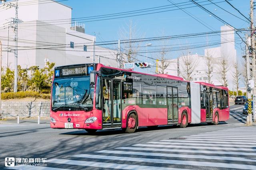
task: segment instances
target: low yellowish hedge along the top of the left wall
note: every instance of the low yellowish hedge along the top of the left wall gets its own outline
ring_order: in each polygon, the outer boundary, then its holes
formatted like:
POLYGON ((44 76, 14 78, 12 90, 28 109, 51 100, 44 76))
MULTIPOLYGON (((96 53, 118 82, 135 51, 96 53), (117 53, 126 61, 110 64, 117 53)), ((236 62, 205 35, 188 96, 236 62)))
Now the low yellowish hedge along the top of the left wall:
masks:
POLYGON ((50 99, 50 94, 40 94, 36 91, 19 91, 17 93, 9 92, 9 93, 2 93, 1 99, 7 100, 7 99, 23 99, 26 97, 34 97, 34 98, 40 98, 40 99, 50 99))

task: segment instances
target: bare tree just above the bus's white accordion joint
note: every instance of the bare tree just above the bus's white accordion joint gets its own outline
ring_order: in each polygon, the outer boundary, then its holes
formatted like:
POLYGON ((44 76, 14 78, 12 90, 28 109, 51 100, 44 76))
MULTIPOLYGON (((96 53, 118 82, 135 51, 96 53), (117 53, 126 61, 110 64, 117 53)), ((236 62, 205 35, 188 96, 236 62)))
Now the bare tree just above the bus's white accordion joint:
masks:
POLYGON ((191 81, 192 80, 191 75, 197 66, 197 59, 193 58, 192 55, 190 55, 190 52, 187 53, 187 55, 185 55, 184 53, 182 53, 182 54, 183 54, 183 56, 180 57, 182 59, 181 75, 185 80, 191 81))

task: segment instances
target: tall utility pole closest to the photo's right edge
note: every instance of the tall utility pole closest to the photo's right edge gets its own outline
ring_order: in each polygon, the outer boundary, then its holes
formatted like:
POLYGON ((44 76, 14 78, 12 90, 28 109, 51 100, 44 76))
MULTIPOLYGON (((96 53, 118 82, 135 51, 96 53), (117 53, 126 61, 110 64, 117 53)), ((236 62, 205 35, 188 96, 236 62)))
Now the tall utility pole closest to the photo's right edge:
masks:
MULTIPOLYGON (((252 100, 253 100, 253 113, 255 115, 255 97, 256 97, 256 59, 255 59, 255 35, 254 35, 254 24, 253 24, 253 0, 250 0, 250 19, 251 19, 251 49, 252 49, 252 78, 254 80, 254 87, 252 87, 252 100)), ((252 125, 252 114, 248 114, 248 124, 252 125)))

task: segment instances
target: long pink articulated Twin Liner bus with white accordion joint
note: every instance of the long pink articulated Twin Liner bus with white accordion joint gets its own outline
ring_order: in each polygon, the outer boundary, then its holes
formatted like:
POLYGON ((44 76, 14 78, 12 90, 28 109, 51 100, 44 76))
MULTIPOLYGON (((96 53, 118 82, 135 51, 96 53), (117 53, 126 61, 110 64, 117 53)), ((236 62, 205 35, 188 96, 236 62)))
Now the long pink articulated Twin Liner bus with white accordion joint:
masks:
POLYGON ((56 67, 51 128, 87 132, 122 128, 211 123, 229 119, 228 88, 150 75, 102 64, 56 67))

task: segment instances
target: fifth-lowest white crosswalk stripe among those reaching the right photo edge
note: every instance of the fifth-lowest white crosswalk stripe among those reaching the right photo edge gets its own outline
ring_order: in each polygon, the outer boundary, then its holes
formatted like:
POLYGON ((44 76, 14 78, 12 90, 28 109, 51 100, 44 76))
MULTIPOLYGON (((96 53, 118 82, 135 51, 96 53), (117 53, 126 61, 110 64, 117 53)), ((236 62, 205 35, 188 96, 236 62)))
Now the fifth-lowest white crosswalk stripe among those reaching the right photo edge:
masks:
MULTIPOLYGON (((248 148, 253 148, 253 147, 256 147, 256 145, 251 145, 251 146, 248 146, 247 145, 241 145, 241 144, 204 144, 204 143, 176 143, 176 142, 147 142, 147 143, 152 143, 152 144, 171 144, 171 145, 198 145, 198 146, 227 146, 227 147, 248 147, 248 148)), ((242 148, 241 147, 241 148, 242 148)))

